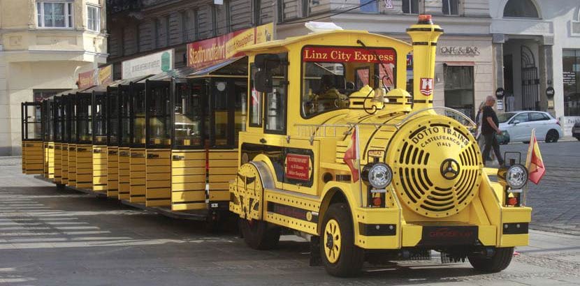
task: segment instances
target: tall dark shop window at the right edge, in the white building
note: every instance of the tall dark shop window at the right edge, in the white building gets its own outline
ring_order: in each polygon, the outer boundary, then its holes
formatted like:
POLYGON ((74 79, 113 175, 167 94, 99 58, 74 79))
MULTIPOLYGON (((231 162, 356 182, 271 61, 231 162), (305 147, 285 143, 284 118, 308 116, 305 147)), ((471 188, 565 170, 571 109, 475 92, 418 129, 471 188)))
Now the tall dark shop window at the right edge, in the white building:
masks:
POLYGON ((580 116, 580 50, 563 51, 564 116, 580 116))

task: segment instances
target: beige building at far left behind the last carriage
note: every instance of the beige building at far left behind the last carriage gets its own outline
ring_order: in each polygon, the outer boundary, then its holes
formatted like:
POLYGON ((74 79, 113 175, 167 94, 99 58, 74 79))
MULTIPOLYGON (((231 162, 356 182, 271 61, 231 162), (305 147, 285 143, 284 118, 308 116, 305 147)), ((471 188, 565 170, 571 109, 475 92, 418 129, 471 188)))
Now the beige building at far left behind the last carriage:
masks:
POLYGON ((75 88, 107 61, 105 0, 0 0, 0 155, 17 155, 20 103, 75 88))

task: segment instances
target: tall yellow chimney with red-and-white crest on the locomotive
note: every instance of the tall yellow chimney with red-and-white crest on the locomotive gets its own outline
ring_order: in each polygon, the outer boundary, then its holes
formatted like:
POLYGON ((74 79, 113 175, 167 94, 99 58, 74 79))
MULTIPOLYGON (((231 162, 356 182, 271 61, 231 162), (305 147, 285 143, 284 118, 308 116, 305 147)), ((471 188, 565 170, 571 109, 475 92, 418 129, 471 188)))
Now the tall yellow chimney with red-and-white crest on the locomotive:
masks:
POLYGON ((413 43, 413 109, 433 107, 435 53, 443 29, 433 24, 431 15, 419 15, 419 22, 407 33, 413 43))

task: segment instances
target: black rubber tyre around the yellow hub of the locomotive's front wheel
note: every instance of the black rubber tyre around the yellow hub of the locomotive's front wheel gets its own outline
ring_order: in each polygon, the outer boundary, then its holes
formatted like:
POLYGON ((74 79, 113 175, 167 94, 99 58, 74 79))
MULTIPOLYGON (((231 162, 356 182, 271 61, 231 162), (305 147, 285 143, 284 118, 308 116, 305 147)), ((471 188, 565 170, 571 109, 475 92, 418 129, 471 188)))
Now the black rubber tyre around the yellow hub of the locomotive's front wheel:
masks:
POLYGON ((328 274, 338 277, 353 277, 361 274, 365 253, 362 248, 354 245, 354 227, 348 204, 331 204, 324 214, 322 221, 322 235, 320 238, 320 255, 324 268, 328 274), (324 241, 324 232, 328 221, 335 220, 340 230, 340 253, 336 262, 330 262, 326 257, 325 248, 328 241, 324 241))

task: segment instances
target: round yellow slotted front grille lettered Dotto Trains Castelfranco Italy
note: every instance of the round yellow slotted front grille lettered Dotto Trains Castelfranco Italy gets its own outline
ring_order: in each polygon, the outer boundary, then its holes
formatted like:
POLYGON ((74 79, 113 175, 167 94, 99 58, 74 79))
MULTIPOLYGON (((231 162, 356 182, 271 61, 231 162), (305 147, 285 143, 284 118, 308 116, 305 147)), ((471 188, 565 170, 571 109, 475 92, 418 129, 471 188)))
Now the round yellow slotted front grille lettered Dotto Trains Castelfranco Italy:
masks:
POLYGON ((405 123, 386 153, 400 201, 421 216, 452 216, 477 195, 481 153, 457 121, 433 115, 405 123))

